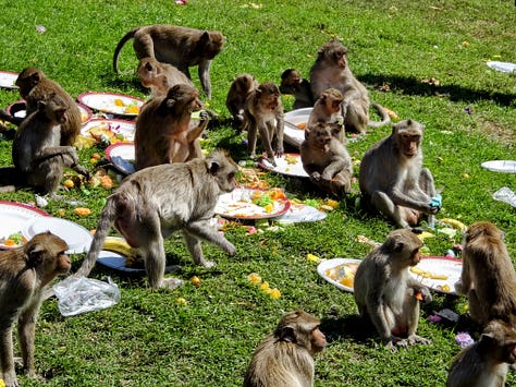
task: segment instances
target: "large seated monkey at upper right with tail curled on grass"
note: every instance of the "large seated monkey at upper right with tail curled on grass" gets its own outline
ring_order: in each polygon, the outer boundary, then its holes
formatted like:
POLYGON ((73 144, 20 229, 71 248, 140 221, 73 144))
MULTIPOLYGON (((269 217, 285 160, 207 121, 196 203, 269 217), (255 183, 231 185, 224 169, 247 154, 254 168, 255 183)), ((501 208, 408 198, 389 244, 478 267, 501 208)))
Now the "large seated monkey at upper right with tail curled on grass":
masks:
POLYGON ((367 126, 380 128, 391 122, 386 110, 379 104, 370 102, 367 88, 353 75, 347 61, 347 47, 340 41, 330 40, 319 49, 309 77, 315 99, 329 87, 342 93, 342 116, 346 131, 365 134, 367 126), (382 121, 369 120, 370 105, 378 110, 382 121))

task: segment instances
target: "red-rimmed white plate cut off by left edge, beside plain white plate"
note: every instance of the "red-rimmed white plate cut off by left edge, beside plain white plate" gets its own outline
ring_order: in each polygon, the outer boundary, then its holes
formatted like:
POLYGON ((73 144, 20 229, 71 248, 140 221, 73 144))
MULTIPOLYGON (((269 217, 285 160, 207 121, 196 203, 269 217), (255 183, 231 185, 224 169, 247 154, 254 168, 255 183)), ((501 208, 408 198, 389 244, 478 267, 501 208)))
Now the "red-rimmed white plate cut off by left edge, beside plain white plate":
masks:
MULTIPOLYGON (((46 211, 23 203, 0 202, 0 238, 8 238, 13 233, 21 233, 27 220, 49 217, 46 211)), ((0 249, 13 249, 20 245, 7 246, 0 243, 0 249)))

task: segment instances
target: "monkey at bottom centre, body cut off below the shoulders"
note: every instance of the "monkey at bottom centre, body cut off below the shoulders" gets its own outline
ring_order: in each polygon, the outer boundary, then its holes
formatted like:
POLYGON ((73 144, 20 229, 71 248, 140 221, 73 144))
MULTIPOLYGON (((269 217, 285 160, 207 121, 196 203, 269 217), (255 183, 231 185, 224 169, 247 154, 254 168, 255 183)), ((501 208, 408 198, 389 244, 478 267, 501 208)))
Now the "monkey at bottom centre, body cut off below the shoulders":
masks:
POLYGON ((255 350, 244 387, 312 387, 314 355, 327 346, 319 325, 304 311, 285 314, 255 350))

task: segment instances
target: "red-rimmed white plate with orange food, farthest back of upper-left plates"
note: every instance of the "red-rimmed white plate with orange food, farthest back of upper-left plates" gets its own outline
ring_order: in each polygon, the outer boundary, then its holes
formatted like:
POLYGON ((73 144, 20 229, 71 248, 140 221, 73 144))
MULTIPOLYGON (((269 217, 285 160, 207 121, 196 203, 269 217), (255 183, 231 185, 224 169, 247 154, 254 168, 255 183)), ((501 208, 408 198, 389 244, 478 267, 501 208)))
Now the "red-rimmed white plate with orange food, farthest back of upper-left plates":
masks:
POLYGON ((136 117, 137 113, 128 113, 125 111, 128 106, 136 105, 138 108, 145 104, 145 100, 137 97, 132 97, 123 94, 113 93, 95 93, 87 92, 77 96, 77 100, 81 104, 86 105, 88 108, 102 111, 105 113, 136 117), (123 106, 115 105, 116 100, 121 100, 123 106))

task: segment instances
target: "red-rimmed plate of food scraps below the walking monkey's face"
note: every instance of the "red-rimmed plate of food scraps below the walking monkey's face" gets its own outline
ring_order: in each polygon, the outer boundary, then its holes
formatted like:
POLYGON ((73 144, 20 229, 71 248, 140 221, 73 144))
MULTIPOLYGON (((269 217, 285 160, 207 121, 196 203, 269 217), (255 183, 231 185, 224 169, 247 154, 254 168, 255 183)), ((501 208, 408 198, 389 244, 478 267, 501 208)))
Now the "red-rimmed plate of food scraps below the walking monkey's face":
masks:
POLYGON ((214 213, 225 218, 235 219, 266 219, 275 218, 285 214, 291 207, 291 201, 273 201, 273 209, 267 213, 266 209, 251 201, 255 191, 267 192, 268 190, 236 188, 233 192, 224 193, 219 196, 214 213))

